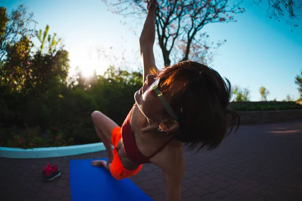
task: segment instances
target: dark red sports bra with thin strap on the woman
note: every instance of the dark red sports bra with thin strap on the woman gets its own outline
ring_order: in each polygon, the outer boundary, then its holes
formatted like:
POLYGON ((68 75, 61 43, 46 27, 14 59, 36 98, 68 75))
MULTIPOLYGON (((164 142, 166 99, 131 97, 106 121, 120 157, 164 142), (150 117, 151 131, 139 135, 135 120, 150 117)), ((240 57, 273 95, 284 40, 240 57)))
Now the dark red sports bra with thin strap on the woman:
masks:
POLYGON ((130 110, 129 114, 127 115, 127 117, 121 127, 121 135, 122 135, 123 143, 124 143, 124 152, 130 160, 132 160, 138 164, 150 163, 149 159, 154 157, 163 148, 165 148, 173 140, 173 138, 170 138, 167 142, 165 142, 158 150, 156 150, 150 156, 148 156, 148 157, 144 156, 139 151, 139 149, 136 145, 136 142, 134 139, 134 134, 132 133, 131 126, 130 126, 131 113, 132 113, 134 106, 136 106, 136 104, 133 105, 132 109, 130 110))

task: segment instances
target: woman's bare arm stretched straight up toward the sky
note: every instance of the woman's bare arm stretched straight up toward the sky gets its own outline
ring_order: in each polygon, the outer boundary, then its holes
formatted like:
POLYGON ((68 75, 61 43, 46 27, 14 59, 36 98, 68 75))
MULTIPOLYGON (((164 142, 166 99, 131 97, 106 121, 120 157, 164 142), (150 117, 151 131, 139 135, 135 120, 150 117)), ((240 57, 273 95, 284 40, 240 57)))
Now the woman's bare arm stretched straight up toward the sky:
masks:
POLYGON ((156 0, 147 0, 147 17, 139 38, 140 58, 143 69, 143 83, 145 82, 147 75, 150 74, 150 69, 156 68, 153 53, 153 45, 155 42, 156 4, 156 0))

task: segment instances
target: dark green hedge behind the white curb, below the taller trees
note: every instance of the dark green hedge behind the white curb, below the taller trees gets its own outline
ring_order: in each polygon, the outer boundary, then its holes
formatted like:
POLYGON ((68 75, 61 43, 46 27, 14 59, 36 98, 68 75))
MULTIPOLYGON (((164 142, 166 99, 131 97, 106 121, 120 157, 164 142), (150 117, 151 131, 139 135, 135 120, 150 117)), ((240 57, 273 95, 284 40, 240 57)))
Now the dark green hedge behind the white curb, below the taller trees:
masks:
POLYGON ((42 93, 0 85, 0 146, 50 147, 100 142, 91 113, 121 125, 142 85, 139 72, 110 67, 107 76, 78 78, 69 86, 51 82, 42 93))

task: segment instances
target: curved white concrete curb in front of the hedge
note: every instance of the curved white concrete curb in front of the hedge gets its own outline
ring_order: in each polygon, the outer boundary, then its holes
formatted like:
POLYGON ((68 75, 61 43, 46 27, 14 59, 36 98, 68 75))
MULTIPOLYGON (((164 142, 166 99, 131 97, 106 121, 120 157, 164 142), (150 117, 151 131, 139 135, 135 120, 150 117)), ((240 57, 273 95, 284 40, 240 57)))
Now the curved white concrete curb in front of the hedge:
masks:
POLYGON ((106 148, 102 142, 93 143, 93 144, 85 144, 85 145, 33 148, 33 149, 0 147, 0 157, 3 157, 3 158, 52 158, 52 157, 85 154, 85 153, 91 153, 91 152, 97 152, 97 151, 103 151, 103 150, 106 150, 106 148))

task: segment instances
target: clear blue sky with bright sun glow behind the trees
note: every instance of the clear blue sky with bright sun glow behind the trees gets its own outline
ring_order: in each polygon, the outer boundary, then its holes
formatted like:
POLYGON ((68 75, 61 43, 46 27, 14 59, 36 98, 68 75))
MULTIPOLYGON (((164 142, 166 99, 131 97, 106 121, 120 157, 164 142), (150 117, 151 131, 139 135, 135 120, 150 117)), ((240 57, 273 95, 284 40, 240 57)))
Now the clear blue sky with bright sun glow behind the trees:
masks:
MULTIPOLYGON (((298 98, 294 77, 302 69, 302 23, 293 32, 285 22, 266 17, 266 4, 243 3, 246 13, 235 15, 237 23, 216 23, 204 27, 211 41, 226 39, 211 67, 230 79, 233 85, 251 90, 251 100, 260 100, 259 88, 265 86, 268 99, 285 99, 289 94, 298 98)), ((93 69, 102 73, 110 63, 123 64, 122 57, 131 60, 129 68, 137 69, 140 64, 138 38, 142 23, 122 25, 124 19, 107 11, 99 0, 4 0, 0 6, 8 11, 25 3, 34 12, 37 28, 50 26, 50 33, 57 33, 63 39, 69 52, 71 73, 79 66, 86 75, 93 69), (138 33, 135 35, 134 32, 138 33), (112 47, 112 49, 110 49, 112 47), (102 48, 110 58, 101 59, 96 49, 102 48), (126 50, 122 53, 120 50, 126 50), (134 64, 135 63, 135 64, 134 64)), ((159 48, 155 47, 158 67, 162 66, 159 48)))

